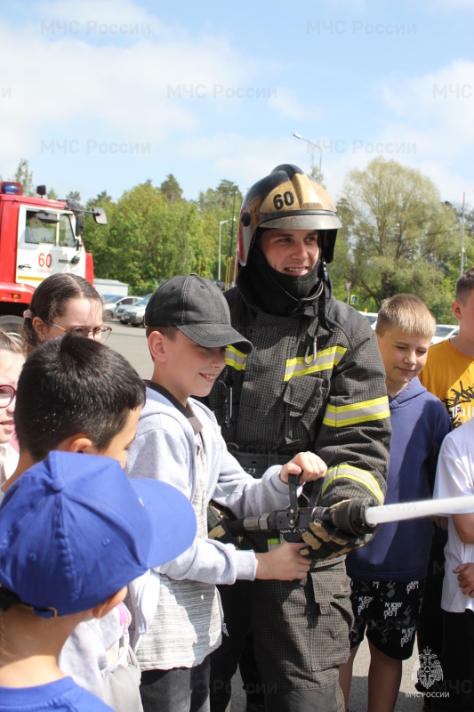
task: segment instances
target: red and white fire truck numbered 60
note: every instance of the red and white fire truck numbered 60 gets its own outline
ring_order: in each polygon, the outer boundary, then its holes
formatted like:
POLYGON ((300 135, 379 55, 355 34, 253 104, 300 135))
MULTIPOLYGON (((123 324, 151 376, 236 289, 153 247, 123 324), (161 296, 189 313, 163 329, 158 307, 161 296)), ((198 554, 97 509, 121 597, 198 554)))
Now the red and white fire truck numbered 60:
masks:
POLYGON ((0 325, 18 331, 22 314, 40 282, 72 272, 93 283, 92 255, 84 249, 83 214, 107 224, 101 207, 79 208, 72 200, 23 195, 21 183, 0 182, 0 325))

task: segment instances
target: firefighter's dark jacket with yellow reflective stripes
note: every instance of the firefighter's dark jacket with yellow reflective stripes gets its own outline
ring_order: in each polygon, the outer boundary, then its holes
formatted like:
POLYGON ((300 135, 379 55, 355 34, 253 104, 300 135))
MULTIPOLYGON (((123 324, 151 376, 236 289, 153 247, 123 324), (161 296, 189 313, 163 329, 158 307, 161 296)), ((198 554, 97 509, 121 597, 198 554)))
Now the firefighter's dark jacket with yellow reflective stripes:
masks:
POLYGON ((253 352, 228 347, 209 404, 241 465, 253 455, 257 463, 264 455, 266 465, 284 464, 311 450, 328 467, 322 506, 359 497, 383 504, 390 410, 382 357, 366 318, 332 295, 325 304, 328 328, 314 313, 251 309, 238 289, 229 306, 232 326, 253 343, 253 352))

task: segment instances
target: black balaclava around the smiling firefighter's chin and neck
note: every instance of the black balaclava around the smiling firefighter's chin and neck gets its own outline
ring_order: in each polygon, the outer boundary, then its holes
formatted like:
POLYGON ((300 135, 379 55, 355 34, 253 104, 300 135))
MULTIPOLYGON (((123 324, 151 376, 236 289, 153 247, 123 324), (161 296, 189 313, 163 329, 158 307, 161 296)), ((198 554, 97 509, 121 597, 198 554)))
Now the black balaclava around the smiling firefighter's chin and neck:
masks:
POLYGON ((261 251, 259 233, 249 250, 247 263, 237 276, 237 285, 245 303, 275 316, 290 316, 297 312, 315 316, 320 312, 317 309, 321 301, 318 297, 324 295, 322 302, 325 303, 324 284, 326 280, 329 282, 321 252, 317 263, 307 274, 300 277, 283 274, 267 262, 261 251))

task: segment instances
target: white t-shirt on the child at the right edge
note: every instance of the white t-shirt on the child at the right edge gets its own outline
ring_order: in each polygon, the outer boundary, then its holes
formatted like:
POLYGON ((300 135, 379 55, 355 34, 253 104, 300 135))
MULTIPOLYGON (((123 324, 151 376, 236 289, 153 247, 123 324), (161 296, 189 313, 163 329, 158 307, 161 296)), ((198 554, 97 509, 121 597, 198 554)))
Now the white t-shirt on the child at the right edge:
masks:
MULTIPOLYGON (((434 498, 474 495, 474 419, 446 435, 438 458, 434 498)), ((468 509, 474 512, 474 508, 468 509)), ((474 517, 474 514, 473 514, 474 517)), ((453 569, 460 563, 474 563, 474 543, 463 544, 448 516, 445 547, 446 569, 441 608, 452 613, 474 611, 474 598, 464 595, 453 569)))

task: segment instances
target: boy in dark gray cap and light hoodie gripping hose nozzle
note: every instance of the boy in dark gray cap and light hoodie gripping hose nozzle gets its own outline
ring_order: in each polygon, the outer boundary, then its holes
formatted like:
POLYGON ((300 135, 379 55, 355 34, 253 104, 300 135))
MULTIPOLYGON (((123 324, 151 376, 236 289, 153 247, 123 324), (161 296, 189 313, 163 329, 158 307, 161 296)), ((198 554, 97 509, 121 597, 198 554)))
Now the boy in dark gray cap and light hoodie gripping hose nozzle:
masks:
POLYGON ((134 649, 144 709, 197 712, 208 709, 209 654, 221 642, 215 584, 304 579, 310 563, 298 553, 301 544, 254 554, 208 539, 208 502, 213 498, 237 517, 284 508, 288 474, 303 470, 301 480, 315 480, 325 465, 313 453, 299 453, 254 480, 229 455, 211 411, 190 398, 208 395, 224 368, 226 346, 252 351, 230 326, 229 306, 212 282, 197 275, 169 279, 152 295, 145 323, 154 369, 127 472, 173 483, 190 499, 198 526, 189 552, 132 589, 134 649))

